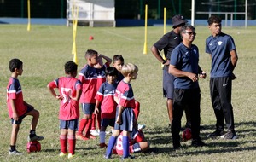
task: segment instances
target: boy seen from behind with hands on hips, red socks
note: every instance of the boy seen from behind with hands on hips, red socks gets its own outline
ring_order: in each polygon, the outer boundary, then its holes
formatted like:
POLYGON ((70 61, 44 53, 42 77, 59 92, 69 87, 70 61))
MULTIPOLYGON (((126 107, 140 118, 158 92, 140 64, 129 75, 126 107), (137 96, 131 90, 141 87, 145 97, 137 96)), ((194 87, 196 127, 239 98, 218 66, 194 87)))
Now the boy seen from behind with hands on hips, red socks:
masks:
POLYGON ((78 65, 73 61, 65 64, 66 77, 57 78, 47 85, 49 92, 56 99, 61 101, 60 104, 60 156, 67 155, 67 143, 69 145, 67 158, 73 158, 75 153, 75 131, 78 130, 79 124, 79 98, 82 93, 82 84, 76 78, 78 74, 78 65), (55 89, 59 89, 59 94, 55 89))

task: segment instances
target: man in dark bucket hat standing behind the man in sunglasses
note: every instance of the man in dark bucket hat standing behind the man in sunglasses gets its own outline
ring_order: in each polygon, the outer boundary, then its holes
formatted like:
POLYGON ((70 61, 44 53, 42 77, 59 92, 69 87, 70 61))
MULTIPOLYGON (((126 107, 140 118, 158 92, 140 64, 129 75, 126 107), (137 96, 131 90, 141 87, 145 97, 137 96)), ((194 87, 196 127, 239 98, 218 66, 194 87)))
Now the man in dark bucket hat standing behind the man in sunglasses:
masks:
MULTIPOLYGON (((173 98, 173 79, 172 74, 168 73, 170 64, 170 58, 172 50, 182 41, 180 37, 181 27, 184 26, 188 21, 184 19, 182 15, 175 15, 172 17, 172 28, 171 32, 166 33, 151 47, 151 51, 155 58, 160 61, 163 67, 163 95, 167 98, 166 106, 169 117, 169 126, 171 129, 172 124, 172 98, 173 98), (164 49, 164 57, 160 55, 160 51, 164 49)), ((189 113, 186 113, 189 114, 189 113)), ((186 115, 187 116, 187 115, 186 115)), ((188 118, 187 118, 188 124, 188 118)))

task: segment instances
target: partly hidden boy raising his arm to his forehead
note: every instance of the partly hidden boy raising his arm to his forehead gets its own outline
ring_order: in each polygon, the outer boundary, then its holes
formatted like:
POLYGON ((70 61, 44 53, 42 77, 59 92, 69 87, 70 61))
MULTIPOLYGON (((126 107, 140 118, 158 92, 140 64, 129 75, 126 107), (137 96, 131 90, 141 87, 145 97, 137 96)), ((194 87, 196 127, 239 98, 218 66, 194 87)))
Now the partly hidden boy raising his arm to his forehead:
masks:
MULTIPOLYGON (((106 74, 105 74, 105 70, 107 67, 109 67, 109 65, 111 64, 112 59, 109 58, 106 55, 102 55, 99 54, 98 55, 98 63, 94 66, 96 68, 96 73, 97 73, 97 86, 96 86, 96 90, 99 90, 100 86, 106 82, 106 74), (106 63, 103 64, 102 59, 106 60, 106 63)), ((101 129, 101 113, 99 113, 99 115, 97 115, 96 113, 92 113, 92 117, 91 117, 91 130, 90 130, 90 134, 93 136, 99 136, 99 132, 101 129), (96 130, 96 120, 97 120, 97 126, 98 126, 98 130, 96 130)))

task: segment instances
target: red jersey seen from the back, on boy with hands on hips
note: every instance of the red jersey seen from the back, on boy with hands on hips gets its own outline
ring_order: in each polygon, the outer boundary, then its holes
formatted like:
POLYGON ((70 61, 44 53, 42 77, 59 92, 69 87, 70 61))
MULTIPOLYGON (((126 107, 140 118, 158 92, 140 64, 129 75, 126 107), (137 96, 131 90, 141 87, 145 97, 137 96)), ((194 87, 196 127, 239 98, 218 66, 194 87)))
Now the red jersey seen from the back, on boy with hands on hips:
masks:
POLYGON ((73 101, 69 96, 75 97, 77 90, 81 90, 81 82, 73 77, 61 77, 49 83, 50 88, 58 88, 63 97, 60 103, 59 119, 72 120, 79 119, 79 101, 73 101))

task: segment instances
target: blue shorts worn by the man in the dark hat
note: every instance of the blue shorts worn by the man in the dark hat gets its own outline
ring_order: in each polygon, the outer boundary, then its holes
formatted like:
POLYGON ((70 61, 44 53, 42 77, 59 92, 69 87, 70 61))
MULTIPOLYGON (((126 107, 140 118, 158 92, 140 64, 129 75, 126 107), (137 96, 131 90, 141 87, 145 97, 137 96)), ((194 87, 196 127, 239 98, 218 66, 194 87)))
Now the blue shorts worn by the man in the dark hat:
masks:
POLYGON ((163 95, 167 99, 173 99, 173 84, 174 76, 168 73, 167 70, 163 70, 163 95))

